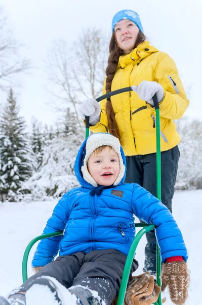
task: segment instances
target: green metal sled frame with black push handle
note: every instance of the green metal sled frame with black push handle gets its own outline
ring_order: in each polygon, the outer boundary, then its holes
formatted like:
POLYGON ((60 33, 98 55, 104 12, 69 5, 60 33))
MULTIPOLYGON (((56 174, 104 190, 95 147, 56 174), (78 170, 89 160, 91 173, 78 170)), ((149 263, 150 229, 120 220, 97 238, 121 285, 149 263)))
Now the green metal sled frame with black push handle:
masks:
MULTIPOLYGON (((118 90, 114 90, 110 93, 107 93, 99 98, 96 99, 97 102, 100 102, 104 99, 110 98, 111 96, 124 93, 124 92, 129 92, 132 91, 132 87, 126 87, 118 90)), ((161 169, 160 169, 160 116, 159 116, 159 105, 158 101, 156 98, 156 95, 153 96, 153 103, 154 103, 154 108, 156 112, 156 175, 157 175, 157 198, 159 201, 161 201, 161 169)), ((89 136, 89 116, 86 116, 86 138, 89 136)), ((124 272, 123 272, 123 277, 122 277, 122 283, 120 285, 120 290, 118 294, 118 299, 117 299, 117 304, 116 305, 123 305, 124 304, 124 298, 125 298, 125 293, 128 285, 128 280, 129 280, 129 274, 130 274, 130 269, 132 266, 134 254, 136 252, 138 243, 141 239, 141 237, 155 229, 155 225, 148 225, 148 224, 142 224, 142 223, 136 223, 135 227, 142 227, 142 229, 136 234, 133 243, 131 245, 131 248, 129 250, 127 259, 126 259, 126 264, 124 267, 124 272)), ((23 255, 23 260, 22 260, 22 280, 23 283, 27 280, 27 262, 28 262, 28 256, 29 252, 34 245, 35 242, 37 242, 40 239, 43 238, 48 238, 48 237, 53 237, 53 236, 59 236, 63 235, 63 231, 58 231, 58 232, 53 232, 53 233, 48 233, 48 234, 42 234, 39 235, 35 238, 33 238, 28 246, 25 249, 24 255, 23 255)), ((157 251, 156 251, 156 284, 161 287, 161 281, 160 281, 160 273, 161 273, 161 259, 160 259, 160 253, 159 253, 159 248, 158 245, 156 244, 157 251)), ((162 305, 161 301, 161 293, 159 293, 158 300, 153 303, 154 305, 162 305)))

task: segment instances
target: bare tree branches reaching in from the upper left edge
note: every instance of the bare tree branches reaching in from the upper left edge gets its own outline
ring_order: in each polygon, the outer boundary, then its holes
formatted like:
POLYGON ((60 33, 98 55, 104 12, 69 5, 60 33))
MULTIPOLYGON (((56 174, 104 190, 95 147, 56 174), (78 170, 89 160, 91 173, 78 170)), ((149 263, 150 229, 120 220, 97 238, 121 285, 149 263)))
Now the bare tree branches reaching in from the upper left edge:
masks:
POLYGON ((21 45, 13 38, 7 25, 4 9, 0 8, 0 89, 7 90, 13 85, 14 76, 27 70, 28 59, 20 55, 21 45))

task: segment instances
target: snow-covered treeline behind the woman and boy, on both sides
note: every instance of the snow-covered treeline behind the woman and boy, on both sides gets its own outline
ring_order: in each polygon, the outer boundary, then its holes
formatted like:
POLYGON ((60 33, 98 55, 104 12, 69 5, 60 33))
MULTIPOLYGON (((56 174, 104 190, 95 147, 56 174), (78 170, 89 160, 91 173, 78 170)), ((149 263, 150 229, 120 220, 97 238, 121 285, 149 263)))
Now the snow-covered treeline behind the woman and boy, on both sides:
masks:
MULTIPOLYGON (((181 156, 176 188, 202 189, 202 121, 184 117, 177 128, 181 156)), ((11 89, 0 118, 0 201, 46 200, 78 186, 73 167, 84 130, 67 108, 57 126, 35 120, 27 131, 11 89)))

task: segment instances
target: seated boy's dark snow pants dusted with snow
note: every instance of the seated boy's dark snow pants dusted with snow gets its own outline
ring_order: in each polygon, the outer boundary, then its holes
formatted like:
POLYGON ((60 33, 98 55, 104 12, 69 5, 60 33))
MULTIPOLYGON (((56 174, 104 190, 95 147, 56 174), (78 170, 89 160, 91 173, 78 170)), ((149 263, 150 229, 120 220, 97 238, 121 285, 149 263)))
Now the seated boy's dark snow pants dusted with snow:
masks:
MULTIPOLYGON (((110 305, 118 295, 126 258, 125 254, 114 249, 59 256, 30 277, 20 288, 27 291, 35 279, 50 276, 66 288, 74 285, 88 286, 89 289, 98 291, 101 300, 110 305)), ((138 262, 134 259, 130 278, 137 268, 138 262)))

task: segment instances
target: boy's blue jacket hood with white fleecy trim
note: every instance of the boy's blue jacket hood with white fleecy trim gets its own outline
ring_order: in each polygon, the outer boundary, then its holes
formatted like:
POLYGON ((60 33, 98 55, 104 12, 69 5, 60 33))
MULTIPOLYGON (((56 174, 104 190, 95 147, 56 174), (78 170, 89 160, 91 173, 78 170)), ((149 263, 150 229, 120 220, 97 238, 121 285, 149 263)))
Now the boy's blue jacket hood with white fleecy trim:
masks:
MULTIPOLYGON (((114 144, 111 144, 112 141, 110 141, 110 139, 114 138, 114 140, 116 141, 117 138, 115 138, 115 137, 112 138, 112 137, 113 137, 112 135, 107 134, 107 133, 93 134, 93 135, 89 136, 88 138, 86 138, 84 140, 83 144, 80 146, 80 149, 78 150, 78 154, 77 154, 76 160, 75 160, 74 172, 75 172, 75 175, 76 175, 76 178, 77 178, 79 184, 82 187, 85 187, 85 188, 97 187, 95 180, 93 179, 93 177, 90 176, 88 169, 87 169, 88 158, 90 157, 92 152, 97 147, 100 147, 103 145, 109 145, 114 149, 114 144), (107 138, 109 137, 108 141, 106 141, 106 139, 105 139, 106 136, 107 136, 107 138), (104 143, 103 143, 103 137, 104 137, 104 143), (88 139, 89 139, 89 141, 88 141, 88 139), (94 144, 94 147, 93 147, 94 149, 92 149, 92 147, 91 147, 92 140, 93 140, 93 142, 96 142, 96 146, 94 144), (88 143, 87 143, 87 141, 88 141, 88 143), (87 150, 86 147, 89 147, 89 142, 90 142, 90 148, 88 148, 88 150, 90 150, 90 151, 88 153, 86 151, 87 150), (85 178, 84 178, 84 176, 85 176, 85 178), (90 178, 89 178, 89 176, 90 176, 90 178)), ((119 143, 119 141, 117 141, 117 142, 119 143)), ((121 145, 119 146, 119 151, 117 151, 116 147, 114 150, 116 151, 116 153, 118 155, 119 164, 120 164, 120 173, 118 175, 118 178, 114 181, 114 186, 117 186, 117 185, 123 184, 125 177, 126 177, 126 157, 125 157, 124 150, 121 145), (122 158, 122 159, 120 160, 120 158, 122 158), (117 182, 117 183, 115 184, 115 182, 117 182)))

